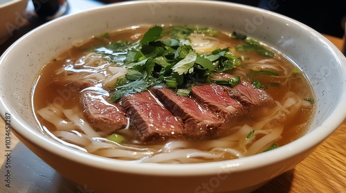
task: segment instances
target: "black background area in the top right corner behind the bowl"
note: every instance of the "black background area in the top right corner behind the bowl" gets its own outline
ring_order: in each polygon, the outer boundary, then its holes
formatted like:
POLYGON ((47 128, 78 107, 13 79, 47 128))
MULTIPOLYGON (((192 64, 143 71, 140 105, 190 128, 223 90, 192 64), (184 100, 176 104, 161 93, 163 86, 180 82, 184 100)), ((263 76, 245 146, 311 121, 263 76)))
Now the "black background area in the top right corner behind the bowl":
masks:
POLYGON ((242 3, 283 14, 322 34, 340 38, 345 34, 345 0, 228 0, 228 2, 242 3))

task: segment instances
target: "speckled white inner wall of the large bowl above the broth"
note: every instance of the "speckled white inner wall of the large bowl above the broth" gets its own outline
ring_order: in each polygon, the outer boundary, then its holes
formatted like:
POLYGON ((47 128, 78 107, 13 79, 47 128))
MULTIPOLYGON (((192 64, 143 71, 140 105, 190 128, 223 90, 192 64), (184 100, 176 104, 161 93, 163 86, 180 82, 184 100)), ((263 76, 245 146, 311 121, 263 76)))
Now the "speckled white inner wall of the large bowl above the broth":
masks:
POLYGON ((0 102, 4 107, 1 116, 6 112, 12 114, 13 128, 33 143, 44 148, 62 148, 42 134, 30 103, 33 82, 42 65, 73 41, 131 26, 161 24, 210 26, 226 32, 242 32, 282 52, 307 74, 317 99, 316 118, 309 130, 315 136, 312 139, 303 136, 285 145, 287 147, 282 148, 286 148, 286 154, 277 159, 317 145, 345 119, 343 63, 346 60, 334 45, 292 19, 257 8, 212 1, 129 1, 62 17, 33 30, 1 57, 0 102), (46 145, 42 145, 43 141, 46 145), (295 150, 302 144, 306 144, 304 148, 295 150))

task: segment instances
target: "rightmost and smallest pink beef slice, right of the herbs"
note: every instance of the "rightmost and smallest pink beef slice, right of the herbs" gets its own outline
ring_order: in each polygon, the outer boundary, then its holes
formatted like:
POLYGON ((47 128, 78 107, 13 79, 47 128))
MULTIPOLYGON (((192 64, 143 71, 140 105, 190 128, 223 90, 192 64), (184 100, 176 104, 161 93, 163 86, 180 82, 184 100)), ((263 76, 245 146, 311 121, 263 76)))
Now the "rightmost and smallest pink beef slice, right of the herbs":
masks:
POLYGON ((245 81, 242 81, 234 88, 227 88, 227 90, 233 99, 249 108, 273 103, 273 98, 268 93, 264 90, 253 88, 251 83, 245 81))

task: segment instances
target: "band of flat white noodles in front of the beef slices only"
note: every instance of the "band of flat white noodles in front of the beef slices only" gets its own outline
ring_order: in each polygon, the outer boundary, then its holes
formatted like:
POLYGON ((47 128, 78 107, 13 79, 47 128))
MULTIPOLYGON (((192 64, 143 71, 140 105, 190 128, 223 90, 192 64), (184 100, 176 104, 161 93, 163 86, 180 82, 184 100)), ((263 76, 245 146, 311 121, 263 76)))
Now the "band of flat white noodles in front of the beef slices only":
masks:
MULTIPOLYGON (((50 104, 38 112, 41 115, 46 110, 48 111, 46 115, 56 116, 60 118, 58 119, 60 122, 64 120, 60 116, 66 116, 66 120, 69 121, 66 123, 73 125, 74 128, 75 125, 78 126, 83 133, 74 131, 72 128, 68 128, 71 131, 64 131, 60 127, 60 131, 53 132, 53 134, 64 141, 84 147, 87 152, 100 156, 136 160, 139 162, 188 163, 191 160, 203 162, 206 160, 222 159, 226 154, 229 157, 239 158, 266 150, 268 145, 281 138, 283 125, 275 125, 278 123, 275 121, 281 122, 284 115, 295 113, 299 110, 302 105, 302 99, 295 96, 293 92, 288 92, 284 96, 282 103, 279 101, 275 101, 275 103, 275 108, 266 112, 267 116, 255 125, 250 126, 245 124, 242 127, 230 128, 230 130, 234 130, 235 132, 229 136, 194 144, 198 147, 203 147, 203 150, 192 148, 190 141, 170 141, 164 145, 152 145, 152 148, 136 148, 136 145, 119 144, 109 141, 100 137, 104 136, 104 134, 95 132, 89 124, 81 119, 81 116, 78 115, 77 107, 63 109, 60 106, 50 104), (255 130, 253 136, 246 139, 246 136, 251 130, 255 130)), ((45 116, 45 114, 41 116, 47 119, 47 121, 53 120, 51 116, 45 116)))

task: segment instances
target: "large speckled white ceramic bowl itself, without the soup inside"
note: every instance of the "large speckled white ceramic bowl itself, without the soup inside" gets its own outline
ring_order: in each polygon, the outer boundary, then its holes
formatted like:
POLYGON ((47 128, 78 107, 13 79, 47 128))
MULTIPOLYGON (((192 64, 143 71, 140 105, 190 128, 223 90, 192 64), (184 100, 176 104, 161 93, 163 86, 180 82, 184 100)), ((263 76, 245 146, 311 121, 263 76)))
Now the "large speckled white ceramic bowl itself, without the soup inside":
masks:
POLYGON ((318 32, 273 12, 217 1, 135 1, 73 14, 14 43, 0 61, 1 116, 35 154, 67 179, 95 192, 249 192, 290 170, 346 116, 346 59, 318 32), (129 163, 78 152, 39 130, 30 103, 33 81, 47 61, 73 41, 143 24, 187 24, 238 30, 284 53, 316 92, 309 133, 264 154, 199 164, 129 163))

